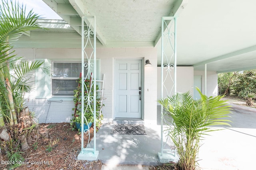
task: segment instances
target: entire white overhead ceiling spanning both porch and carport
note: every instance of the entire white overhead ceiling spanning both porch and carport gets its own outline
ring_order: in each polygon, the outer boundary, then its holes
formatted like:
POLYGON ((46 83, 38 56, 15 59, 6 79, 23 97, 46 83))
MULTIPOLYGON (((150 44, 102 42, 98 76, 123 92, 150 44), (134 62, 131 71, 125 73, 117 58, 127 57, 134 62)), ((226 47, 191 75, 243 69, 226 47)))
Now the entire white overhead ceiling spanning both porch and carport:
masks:
POLYGON ((204 70, 209 63, 207 70, 217 72, 256 68, 255 0, 43 1, 70 25, 66 32, 81 34, 80 16, 96 16, 97 47, 159 47, 160 64, 161 18, 175 15, 178 65, 204 70))

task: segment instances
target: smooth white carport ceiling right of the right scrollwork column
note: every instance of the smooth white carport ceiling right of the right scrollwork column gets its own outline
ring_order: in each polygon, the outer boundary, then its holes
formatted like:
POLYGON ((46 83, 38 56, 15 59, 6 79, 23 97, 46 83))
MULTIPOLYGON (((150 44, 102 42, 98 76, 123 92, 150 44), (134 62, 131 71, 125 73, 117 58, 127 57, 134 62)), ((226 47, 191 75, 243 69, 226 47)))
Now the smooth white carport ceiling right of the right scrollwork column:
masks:
POLYGON ((255 6, 255 0, 189 0, 177 20, 177 62, 203 70, 198 63, 215 61, 207 69, 219 72, 256 68, 255 6))

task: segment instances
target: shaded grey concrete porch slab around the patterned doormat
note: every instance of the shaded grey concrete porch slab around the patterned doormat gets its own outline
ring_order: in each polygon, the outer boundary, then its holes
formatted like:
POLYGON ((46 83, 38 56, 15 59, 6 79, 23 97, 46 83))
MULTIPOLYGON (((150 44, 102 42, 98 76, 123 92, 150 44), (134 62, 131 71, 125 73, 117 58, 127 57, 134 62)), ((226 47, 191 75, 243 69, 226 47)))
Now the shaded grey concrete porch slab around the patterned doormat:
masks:
MULTIPOLYGON (((146 135, 111 134, 113 127, 114 123, 103 124, 96 134, 98 159, 107 164, 108 169, 114 169, 119 164, 144 166, 160 164, 158 152, 161 150, 161 127, 159 125, 145 124, 146 135)), ((92 147, 92 144, 93 141, 90 142, 89 147, 92 147)), ((145 168, 144 166, 140 167, 145 168)))

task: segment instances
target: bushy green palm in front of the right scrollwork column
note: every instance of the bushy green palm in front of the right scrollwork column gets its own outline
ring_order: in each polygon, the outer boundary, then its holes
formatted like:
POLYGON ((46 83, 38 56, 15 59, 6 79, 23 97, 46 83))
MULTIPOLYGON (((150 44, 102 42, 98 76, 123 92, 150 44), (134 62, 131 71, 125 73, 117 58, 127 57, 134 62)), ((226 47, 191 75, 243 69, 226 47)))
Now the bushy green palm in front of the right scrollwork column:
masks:
POLYGON ((170 123, 168 135, 180 156, 179 170, 196 169, 200 141, 207 132, 214 131, 210 126, 229 125, 225 118, 229 117, 230 106, 220 100, 224 96, 207 97, 197 90, 200 100, 194 100, 189 92, 158 100, 170 123))

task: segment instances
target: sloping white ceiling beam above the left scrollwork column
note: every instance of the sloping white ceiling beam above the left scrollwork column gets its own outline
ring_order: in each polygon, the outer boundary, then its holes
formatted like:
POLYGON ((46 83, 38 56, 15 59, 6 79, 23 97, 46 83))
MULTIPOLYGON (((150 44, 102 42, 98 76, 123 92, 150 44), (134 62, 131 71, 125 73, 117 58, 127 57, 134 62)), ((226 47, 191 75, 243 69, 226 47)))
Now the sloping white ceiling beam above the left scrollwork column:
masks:
MULTIPOLYGON (((69 0, 69 2, 80 16, 91 16, 88 9, 85 8, 82 0, 69 0)), ((88 24, 91 24, 91 30, 94 30, 94 24, 86 18, 85 20, 88 24)), ((106 39, 104 38, 100 29, 97 26, 96 26, 96 37, 100 41, 100 43, 102 43, 103 46, 106 46, 106 39)))

